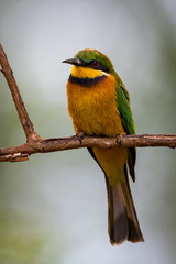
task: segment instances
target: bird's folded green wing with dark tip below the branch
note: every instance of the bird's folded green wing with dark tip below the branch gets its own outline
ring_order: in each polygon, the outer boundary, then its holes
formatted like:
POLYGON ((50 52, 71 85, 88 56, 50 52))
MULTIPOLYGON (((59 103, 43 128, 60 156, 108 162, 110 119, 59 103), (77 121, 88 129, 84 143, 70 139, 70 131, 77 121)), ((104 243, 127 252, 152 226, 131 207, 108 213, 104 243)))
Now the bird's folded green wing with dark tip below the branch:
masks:
MULTIPOLYGON (((124 131, 128 134, 135 134, 133 116, 130 108, 130 97, 128 91, 121 84, 117 87, 117 105, 118 105, 118 110, 120 112, 124 131)), ((129 163, 130 174, 132 179, 135 180, 134 165, 135 165, 136 151, 135 151, 135 147, 130 147, 129 151, 130 151, 130 154, 129 154, 128 163, 129 163)))

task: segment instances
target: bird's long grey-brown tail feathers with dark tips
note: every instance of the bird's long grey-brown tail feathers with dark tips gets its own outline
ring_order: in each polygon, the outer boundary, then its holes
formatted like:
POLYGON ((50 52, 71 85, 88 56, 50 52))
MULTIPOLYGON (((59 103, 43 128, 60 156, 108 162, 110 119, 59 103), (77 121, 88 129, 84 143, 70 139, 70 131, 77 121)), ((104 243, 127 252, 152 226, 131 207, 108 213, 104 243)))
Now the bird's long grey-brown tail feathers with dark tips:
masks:
POLYGON ((139 220, 136 217, 133 198, 130 190, 129 179, 125 173, 123 184, 111 186, 106 176, 108 191, 108 232, 113 245, 144 241, 139 220))

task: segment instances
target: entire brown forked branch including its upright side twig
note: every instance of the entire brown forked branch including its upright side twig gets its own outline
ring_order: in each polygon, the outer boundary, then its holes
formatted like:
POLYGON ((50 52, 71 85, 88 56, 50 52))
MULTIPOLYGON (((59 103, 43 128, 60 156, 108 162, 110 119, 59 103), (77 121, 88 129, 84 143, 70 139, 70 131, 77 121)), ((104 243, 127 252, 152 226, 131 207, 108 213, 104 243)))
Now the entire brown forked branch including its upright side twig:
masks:
POLYGON ((85 135, 80 140, 78 135, 70 138, 57 138, 57 139, 42 139, 34 130, 31 122, 24 102, 20 95, 15 79, 13 77, 12 69, 9 65, 2 45, 0 44, 0 64, 1 72, 3 73, 9 88, 11 90, 13 101, 19 113, 21 124, 23 127, 26 143, 20 146, 1 147, 0 148, 0 162, 19 162, 28 161, 29 155, 34 153, 55 152, 63 150, 72 150, 78 147, 133 147, 133 146, 168 146, 176 147, 176 134, 141 134, 141 135, 119 135, 116 139, 102 138, 102 136, 88 136, 85 135))

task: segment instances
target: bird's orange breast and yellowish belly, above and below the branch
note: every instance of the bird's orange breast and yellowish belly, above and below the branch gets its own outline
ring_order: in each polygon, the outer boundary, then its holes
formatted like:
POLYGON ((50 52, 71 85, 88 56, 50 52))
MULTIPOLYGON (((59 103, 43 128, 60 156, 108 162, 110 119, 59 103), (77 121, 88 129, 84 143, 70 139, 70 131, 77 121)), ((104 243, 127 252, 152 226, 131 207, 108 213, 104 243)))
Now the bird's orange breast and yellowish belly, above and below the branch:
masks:
MULTIPOLYGON (((107 136, 125 133, 117 108, 116 84, 116 79, 110 75, 88 87, 68 81, 68 111, 76 133, 107 136)), ((92 150, 110 184, 116 186, 118 183, 123 183, 128 148, 94 147, 92 150)))

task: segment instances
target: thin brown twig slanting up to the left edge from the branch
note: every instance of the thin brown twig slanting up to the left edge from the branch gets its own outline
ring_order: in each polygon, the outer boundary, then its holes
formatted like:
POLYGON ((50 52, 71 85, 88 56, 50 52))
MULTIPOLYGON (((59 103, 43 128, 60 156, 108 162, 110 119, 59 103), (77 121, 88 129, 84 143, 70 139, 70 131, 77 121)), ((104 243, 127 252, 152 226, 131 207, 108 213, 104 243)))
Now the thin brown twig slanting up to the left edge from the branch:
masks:
POLYGON ((1 72, 3 73, 7 82, 9 85, 10 91, 12 94, 12 98, 21 121, 21 124, 23 127, 24 133, 26 135, 26 139, 36 139, 38 138, 37 133, 34 131, 33 123, 31 122, 29 114, 26 112, 24 102, 22 100, 22 97, 20 95, 18 85, 15 82, 15 79, 13 77, 13 72, 9 65, 7 55, 2 48, 2 45, 0 44, 0 64, 1 64, 1 72))

